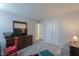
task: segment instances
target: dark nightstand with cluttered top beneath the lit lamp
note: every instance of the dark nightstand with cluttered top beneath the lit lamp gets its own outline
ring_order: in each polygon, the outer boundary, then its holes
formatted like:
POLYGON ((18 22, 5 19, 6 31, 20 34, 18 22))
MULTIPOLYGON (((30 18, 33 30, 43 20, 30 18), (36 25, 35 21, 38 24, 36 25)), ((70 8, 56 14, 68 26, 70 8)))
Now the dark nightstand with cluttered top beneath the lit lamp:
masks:
MULTIPOLYGON (((75 37, 76 38, 76 37, 75 37)), ((70 40, 70 56, 79 56, 79 41, 78 40, 70 40)))

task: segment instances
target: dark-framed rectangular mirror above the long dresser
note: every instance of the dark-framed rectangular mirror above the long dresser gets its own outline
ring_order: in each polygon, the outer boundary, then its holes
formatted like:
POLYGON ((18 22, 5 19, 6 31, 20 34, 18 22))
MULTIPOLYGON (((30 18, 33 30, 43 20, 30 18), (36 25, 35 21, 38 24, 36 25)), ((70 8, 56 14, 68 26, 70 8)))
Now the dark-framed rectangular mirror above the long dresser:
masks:
POLYGON ((17 36, 27 35, 27 23, 21 21, 13 21, 13 33, 17 36))

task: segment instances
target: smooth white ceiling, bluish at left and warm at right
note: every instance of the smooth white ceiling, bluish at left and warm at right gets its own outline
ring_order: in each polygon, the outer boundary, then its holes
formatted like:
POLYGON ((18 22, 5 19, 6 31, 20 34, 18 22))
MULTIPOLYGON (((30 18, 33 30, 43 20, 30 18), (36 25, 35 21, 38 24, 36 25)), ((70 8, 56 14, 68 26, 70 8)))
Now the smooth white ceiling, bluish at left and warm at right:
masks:
POLYGON ((22 17, 40 19, 42 17, 57 16, 79 10, 79 4, 64 3, 7 3, 0 4, 0 9, 15 13, 22 17))

